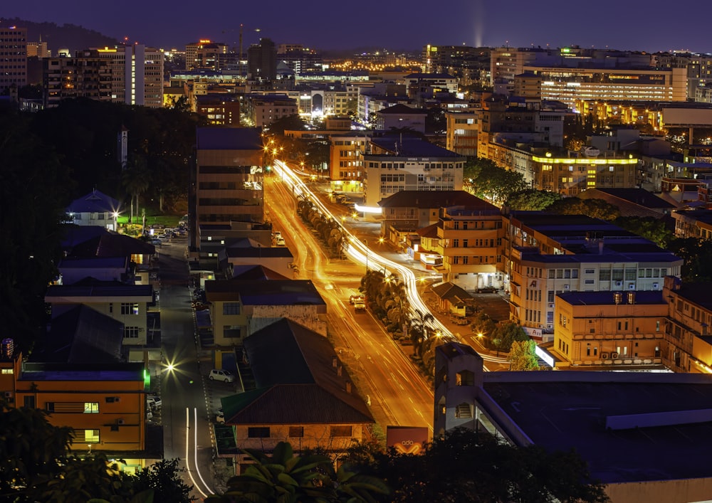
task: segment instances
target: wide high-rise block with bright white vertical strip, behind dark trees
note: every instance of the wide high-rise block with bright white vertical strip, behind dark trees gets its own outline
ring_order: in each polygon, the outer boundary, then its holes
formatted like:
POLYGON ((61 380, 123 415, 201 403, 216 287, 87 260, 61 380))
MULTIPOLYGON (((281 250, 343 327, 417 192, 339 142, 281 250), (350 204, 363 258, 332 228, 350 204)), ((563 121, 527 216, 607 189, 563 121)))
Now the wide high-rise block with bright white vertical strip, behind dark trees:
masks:
POLYGON ((78 51, 44 60, 46 107, 66 97, 163 106, 163 53, 141 45, 78 51))

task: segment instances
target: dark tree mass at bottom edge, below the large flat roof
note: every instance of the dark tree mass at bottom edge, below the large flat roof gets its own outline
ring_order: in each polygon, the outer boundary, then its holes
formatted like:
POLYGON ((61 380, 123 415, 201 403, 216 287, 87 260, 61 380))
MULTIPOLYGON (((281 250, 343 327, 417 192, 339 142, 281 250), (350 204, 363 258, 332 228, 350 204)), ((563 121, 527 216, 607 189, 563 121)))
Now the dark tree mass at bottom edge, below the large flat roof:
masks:
POLYGON ((606 502, 603 486, 574 451, 518 448, 486 432, 456 429, 419 455, 394 450, 347 455, 354 472, 391 487, 378 502, 606 502))

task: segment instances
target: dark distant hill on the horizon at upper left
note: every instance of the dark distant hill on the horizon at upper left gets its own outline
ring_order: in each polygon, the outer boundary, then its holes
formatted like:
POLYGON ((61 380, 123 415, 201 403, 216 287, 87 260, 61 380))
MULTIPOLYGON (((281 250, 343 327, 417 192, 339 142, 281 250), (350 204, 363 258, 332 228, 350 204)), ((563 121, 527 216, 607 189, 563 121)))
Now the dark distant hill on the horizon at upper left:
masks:
POLYGON ((27 41, 47 43, 52 55, 57 55, 60 49, 69 49, 70 54, 90 47, 115 46, 115 38, 102 35, 98 31, 89 30, 74 24, 58 26, 56 23, 33 23, 19 18, 1 18, 0 26, 19 26, 27 28, 27 41))

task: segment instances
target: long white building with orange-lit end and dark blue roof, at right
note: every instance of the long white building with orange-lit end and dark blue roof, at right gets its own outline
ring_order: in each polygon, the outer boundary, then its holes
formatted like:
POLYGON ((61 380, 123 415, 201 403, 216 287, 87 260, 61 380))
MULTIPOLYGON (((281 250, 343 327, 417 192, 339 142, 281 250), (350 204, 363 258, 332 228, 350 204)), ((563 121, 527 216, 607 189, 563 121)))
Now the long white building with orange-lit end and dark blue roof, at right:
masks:
POLYGON ((561 293, 660 291, 680 276, 681 258, 595 218, 515 211, 505 225, 512 319, 523 327, 552 333, 561 293))

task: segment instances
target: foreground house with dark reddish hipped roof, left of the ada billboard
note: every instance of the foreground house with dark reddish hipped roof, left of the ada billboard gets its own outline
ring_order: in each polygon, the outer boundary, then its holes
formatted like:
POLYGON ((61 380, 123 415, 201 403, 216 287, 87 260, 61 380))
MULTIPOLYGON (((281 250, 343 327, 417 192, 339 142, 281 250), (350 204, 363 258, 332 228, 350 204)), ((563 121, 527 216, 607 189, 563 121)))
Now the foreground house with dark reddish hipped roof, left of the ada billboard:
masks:
POLYGON ((255 388, 221 399, 238 449, 339 453, 370 440, 373 417, 326 337, 282 319, 245 339, 244 358, 255 388))

